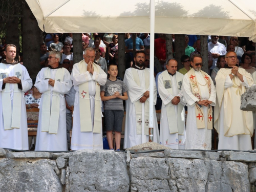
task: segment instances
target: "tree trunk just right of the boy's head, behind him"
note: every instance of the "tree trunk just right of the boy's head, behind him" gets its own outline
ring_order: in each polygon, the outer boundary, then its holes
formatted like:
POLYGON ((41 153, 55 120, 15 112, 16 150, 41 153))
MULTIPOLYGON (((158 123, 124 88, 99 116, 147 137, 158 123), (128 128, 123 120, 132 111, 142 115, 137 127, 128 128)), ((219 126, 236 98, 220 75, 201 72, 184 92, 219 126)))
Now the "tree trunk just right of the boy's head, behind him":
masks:
POLYGON ((118 34, 118 76, 123 79, 125 72, 125 43, 124 33, 118 34))

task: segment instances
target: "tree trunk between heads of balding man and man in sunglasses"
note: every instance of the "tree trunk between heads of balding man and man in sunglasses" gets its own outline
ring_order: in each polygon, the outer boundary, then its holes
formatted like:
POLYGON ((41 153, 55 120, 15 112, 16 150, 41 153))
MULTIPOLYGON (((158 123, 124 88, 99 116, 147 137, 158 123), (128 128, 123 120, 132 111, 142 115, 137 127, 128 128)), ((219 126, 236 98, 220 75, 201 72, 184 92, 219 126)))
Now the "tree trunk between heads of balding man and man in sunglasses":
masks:
POLYGON ((185 37, 175 34, 175 59, 178 61, 178 70, 184 67, 180 61, 182 55, 185 55, 185 37))

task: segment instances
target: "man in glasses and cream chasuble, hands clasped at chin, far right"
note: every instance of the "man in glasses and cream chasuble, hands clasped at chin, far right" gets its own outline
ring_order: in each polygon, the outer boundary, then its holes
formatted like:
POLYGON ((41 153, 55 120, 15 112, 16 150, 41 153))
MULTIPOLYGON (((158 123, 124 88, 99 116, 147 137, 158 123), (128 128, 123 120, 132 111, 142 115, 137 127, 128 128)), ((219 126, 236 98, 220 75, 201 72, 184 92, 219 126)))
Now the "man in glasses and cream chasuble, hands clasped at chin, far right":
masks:
POLYGON ((250 73, 237 66, 237 54, 225 55, 227 65, 218 71, 214 127, 219 133, 218 150, 251 150, 252 112, 240 110, 241 95, 252 86, 250 73))

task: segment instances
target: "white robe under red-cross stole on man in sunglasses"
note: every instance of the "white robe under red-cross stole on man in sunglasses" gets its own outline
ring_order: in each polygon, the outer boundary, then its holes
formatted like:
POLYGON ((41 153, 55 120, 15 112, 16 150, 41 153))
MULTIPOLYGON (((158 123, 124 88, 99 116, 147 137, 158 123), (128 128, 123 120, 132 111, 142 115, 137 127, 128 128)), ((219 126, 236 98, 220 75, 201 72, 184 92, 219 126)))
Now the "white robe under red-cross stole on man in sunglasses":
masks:
MULTIPOLYGON (((206 83, 201 72, 195 71, 195 75, 200 84, 206 83)), ((201 86, 198 83, 201 91, 201 99, 212 101, 211 106, 215 106, 216 89, 214 82, 211 80, 211 93, 209 94, 207 85, 201 86)), ((207 129, 207 118, 205 120, 206 128, 197 129, 196 111, 195 105, 198 98, 194 96, 190 88, 190 81, 188 76, 185 74, 183 78, 182 92, 185 102, 187 103, 187 122, 186 122, 186 150, 211 150, 211 130, 207 129)), ((207 107, 203 106, 204 117, 208 117, 207 107)))

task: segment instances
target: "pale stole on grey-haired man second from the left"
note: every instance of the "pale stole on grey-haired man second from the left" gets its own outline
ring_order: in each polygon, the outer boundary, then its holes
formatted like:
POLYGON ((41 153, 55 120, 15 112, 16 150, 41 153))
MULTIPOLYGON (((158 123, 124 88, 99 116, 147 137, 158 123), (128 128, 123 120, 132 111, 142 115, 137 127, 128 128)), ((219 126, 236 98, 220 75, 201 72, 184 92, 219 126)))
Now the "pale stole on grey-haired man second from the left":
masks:
MULTIPOLYGON (((65 68, 57 69, 55 75, 55 81, 63 81, 65 74, 65 68)), ((44 72, 44 79, 51 78, 51 69, 47 68, 44 72)), ((58 133, 58 124, 59 124, 59 93, 52 92, 50 90, 43 93, 44 100, 42 102, 42 123, 41 123, 41 132, 49 132, 49 134, 58 133), (52 95, 52 105, 51 104, 51 95, 52 95)))

